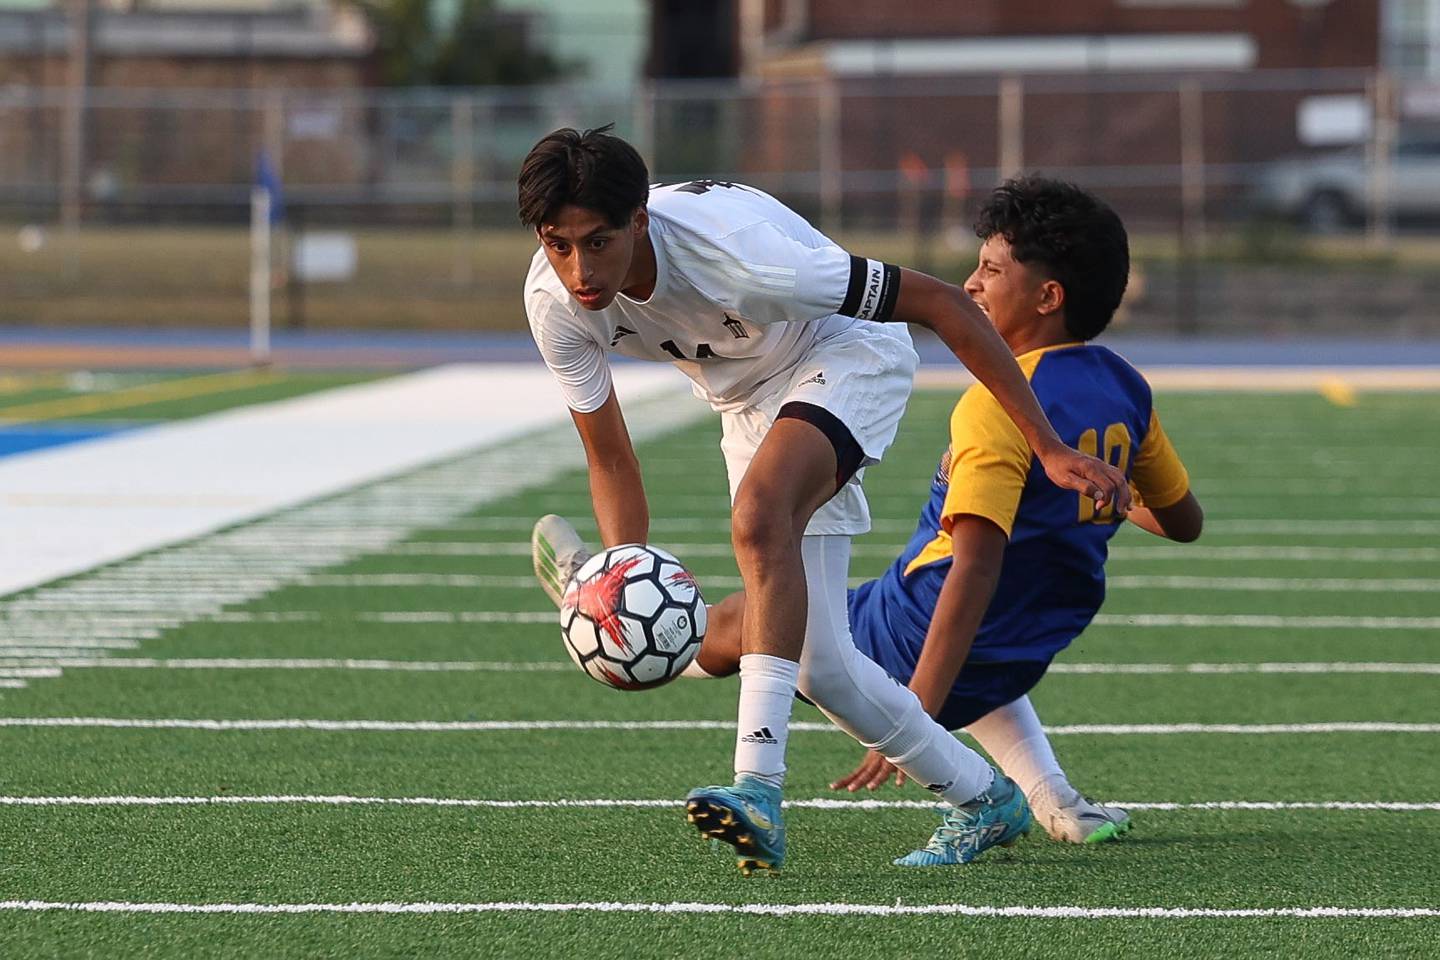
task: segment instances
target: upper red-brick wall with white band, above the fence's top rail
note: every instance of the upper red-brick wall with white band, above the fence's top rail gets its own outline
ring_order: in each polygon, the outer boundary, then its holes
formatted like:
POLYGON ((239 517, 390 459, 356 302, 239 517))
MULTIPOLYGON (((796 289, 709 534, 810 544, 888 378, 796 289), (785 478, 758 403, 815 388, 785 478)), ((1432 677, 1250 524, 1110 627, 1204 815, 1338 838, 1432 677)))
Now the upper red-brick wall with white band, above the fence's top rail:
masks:
MULTIPOLYGON (((742 23, 747 6, 740 0, 742 23)), ((1380 58, 1381 0, 753 6, 763 7, 763 16, 750 13, 743 46, 757 55, 747 66, 762 71, 933 76, 995 69, 1323 69, 1374 66, 1380 58), (992 52, 984 53, 985 46, 992 52)))

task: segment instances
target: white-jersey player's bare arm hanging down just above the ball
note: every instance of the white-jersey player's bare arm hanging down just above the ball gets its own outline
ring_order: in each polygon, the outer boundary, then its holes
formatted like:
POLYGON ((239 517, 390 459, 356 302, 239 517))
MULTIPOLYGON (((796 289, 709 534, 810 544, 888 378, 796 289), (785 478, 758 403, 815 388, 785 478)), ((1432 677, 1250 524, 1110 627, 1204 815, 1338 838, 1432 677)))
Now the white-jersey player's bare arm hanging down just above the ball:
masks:
POLYGON ((649 505, 615 390, 590 413, 570 410, 590 468, 590 499, 606 547, 649 541, 649 505))

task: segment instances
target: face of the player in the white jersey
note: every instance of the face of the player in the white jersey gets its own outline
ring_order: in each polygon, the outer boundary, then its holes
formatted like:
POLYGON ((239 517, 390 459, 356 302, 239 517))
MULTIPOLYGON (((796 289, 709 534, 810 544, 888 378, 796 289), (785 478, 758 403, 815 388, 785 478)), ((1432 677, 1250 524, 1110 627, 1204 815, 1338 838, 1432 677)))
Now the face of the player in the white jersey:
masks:
POLYGON ((635 243, 648 227, 644 207, 624 226, 613 226, 596 210, 567 204, 536 233, 570 296, 585 309, 605 309, 626 286, 635 243))

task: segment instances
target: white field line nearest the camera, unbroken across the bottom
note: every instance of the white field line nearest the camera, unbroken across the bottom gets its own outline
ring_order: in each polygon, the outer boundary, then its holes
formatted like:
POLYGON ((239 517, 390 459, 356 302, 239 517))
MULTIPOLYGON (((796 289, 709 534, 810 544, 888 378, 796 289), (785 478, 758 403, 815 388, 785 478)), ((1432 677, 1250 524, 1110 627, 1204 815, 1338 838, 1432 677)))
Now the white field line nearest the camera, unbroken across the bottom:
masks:
POLYGON ((706 904, 706 902, 348 902, 348 904, 176 904, 130 901, 6 900, 0 911, 95 914, 742 914, 752 917, 978 917, 1009 920, 1417 920, 1437 907, 1020 907, 971 904, 706 904))

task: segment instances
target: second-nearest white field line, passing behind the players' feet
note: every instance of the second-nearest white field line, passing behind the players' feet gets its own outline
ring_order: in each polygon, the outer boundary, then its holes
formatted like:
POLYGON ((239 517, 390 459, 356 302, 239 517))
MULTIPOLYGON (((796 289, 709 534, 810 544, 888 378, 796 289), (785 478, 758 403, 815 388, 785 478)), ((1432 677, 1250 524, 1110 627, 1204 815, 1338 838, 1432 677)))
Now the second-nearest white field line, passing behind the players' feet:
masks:
MULTIPOLYGON (((808 800, 785 800, 791 810, 933 810, 936 800, 845 800, 837 797, 812 797, 808 800)), ((1207 810, 1207 812, 1287 812, 1287 810, 1331 810, 1331 812, 1387 812, 1387 813, 1437 813, 1440 802, 1408 800, 1198 800, 1182 803, 1174 800, 1104 800, 1109 806, 1126 810, 1207 810)), ((0 796, 0 806, 19 807, 163 807, 163 806, 361 806, 361 807, 459 807, 497 810, 566 810, 566 809, 680 809, 684 800, 667 799, 559 799, 559 800, 491 800, 484 797, 374 797, 324 793, 264 793, 264 794, 215 794, 215 796, 0 796)))

